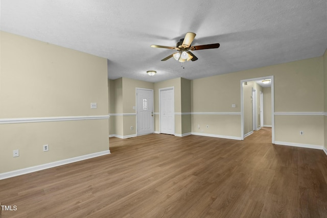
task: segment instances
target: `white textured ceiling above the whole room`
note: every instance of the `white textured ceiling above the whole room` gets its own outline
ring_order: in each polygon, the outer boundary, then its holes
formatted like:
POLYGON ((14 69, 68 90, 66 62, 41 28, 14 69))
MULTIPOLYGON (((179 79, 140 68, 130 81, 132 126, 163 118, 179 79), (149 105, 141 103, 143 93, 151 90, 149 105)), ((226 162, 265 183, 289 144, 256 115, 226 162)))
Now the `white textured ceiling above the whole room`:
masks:
POLYGON ((109 79, 197 79, 322 56, 327 1, 1 0, 1 30, 107 58, 109 79), (186 32, 220 48, 194 51, 183 69, 160 61, 174 50, 150 47, 186 32))

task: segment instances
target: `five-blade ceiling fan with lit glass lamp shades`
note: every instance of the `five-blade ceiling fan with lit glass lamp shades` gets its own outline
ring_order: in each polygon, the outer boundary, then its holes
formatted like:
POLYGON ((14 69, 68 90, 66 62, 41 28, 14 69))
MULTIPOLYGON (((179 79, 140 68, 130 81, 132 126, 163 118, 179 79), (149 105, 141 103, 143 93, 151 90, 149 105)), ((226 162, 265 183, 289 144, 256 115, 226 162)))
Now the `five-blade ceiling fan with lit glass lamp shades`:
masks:
POLYGON ((218 49, 218 47, 220 46, 219 43, 191 46, 191 43, 193 42, 195 36, 196 36, 195 33, 191 33, 191 32, 186 33, 185 37, 183 39, 180 39, 179 42, 176 43, 176 47, 155 45, 155 44, 151 45, 151 47, 159 47, 162 49, 173 49, 177 51, 174 54, 171 54, 170 56, 162 59, 161 61, 167 61, 171 57, 174 57, 176 61, 185 62, 189 60, 191 61, 198 60, 198 58, 191 51, 203 50, 203 49, 218 49))

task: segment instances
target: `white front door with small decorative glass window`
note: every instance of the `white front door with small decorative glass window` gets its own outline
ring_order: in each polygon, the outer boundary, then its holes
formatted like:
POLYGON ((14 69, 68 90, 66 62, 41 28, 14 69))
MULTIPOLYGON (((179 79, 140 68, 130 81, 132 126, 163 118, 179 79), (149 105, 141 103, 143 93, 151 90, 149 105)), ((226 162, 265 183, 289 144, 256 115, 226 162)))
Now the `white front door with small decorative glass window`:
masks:
POLYGON ((153 133, 153 90, 136 89, 137 135, 153 133))

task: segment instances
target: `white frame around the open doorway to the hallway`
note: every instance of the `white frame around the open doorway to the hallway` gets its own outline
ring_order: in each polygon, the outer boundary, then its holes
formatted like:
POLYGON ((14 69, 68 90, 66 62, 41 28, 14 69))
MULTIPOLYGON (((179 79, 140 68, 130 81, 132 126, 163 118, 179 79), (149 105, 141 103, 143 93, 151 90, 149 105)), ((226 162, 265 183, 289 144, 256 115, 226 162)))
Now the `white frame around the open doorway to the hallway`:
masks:
POLYGON ((265 80, 269 79, 271 81, 271 143, 275 143, 275 110, 274 110, 274 76, 251 78, 246 80, 241 80, 241 140, 244 140, 244 96, 243 96, 243 83, 255 80, 265 80))

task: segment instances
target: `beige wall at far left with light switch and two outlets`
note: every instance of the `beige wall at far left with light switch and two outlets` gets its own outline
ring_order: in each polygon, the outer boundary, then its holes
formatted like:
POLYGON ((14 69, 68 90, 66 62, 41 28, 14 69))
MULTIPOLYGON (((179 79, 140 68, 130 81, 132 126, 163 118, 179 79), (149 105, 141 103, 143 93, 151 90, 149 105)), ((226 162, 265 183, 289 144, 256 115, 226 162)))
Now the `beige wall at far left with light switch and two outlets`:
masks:
MULTIPOLYGON (((106 59, 6 32, 0 38, 1 119, 108 114, 106 59)), ((108 119, 0 124, 0 173, 108 151, 108 134, 108 119)))

